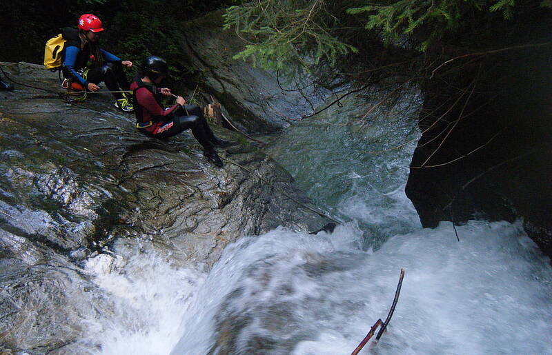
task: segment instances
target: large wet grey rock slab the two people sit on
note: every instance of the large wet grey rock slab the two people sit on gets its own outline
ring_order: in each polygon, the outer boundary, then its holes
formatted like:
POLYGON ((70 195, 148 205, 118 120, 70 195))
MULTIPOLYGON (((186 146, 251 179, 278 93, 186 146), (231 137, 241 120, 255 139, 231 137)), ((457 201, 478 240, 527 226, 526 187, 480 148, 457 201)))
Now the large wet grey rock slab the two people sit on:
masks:
MULTIPOLYGON (((59 87, 40 65, 0 64, 17 81, 59 87)), ((168 142, 139 134, 108 94, 67 104, 16 85, 0 95, 0 344, 10 349, 75 353, 81 318, 111 307, 83 271, 90 256, 118 260, 126 244, 140 243, 175 265, 213 265, 239 236, 328 222, 284 196, 279 189, 316 208, 246 142, 219 150, 219 169, 191 132, 168 142)))

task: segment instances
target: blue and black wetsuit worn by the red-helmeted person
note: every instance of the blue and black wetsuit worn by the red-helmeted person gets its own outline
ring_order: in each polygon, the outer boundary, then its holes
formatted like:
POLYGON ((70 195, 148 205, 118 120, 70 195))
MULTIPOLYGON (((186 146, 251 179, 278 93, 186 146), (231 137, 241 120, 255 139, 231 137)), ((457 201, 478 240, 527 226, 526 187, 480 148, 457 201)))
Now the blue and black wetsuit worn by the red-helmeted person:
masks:
MULTIPOLYGON (((106 50, 100 50, 102 59, 97 59, 92 54, 92 45, 97 43, 88 42, 81 49, 81 39, 79 30, 75 28, 63 28, 61 30, 63 38, 66 39, 63 48, 63 75, 71 77, 84 88, 88 83, 106 83, 108 90, 119 91, 128 90, 129 83, 123 71, 121 59, 106 50), (88 69, 86 79, 83 78, 79 70, 88 69)), ((115 99, 120 99, 120 93, 113 94, 115 99)))

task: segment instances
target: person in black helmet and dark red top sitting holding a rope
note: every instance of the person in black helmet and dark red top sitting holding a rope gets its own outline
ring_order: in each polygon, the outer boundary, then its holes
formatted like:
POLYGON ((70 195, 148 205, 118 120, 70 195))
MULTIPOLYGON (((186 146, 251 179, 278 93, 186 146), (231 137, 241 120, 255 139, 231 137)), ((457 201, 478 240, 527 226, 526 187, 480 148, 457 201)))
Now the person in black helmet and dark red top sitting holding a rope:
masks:
POLYGON ((218 139, 204 118, 198 105, 186 105, 183 97, 177 97, 170 108, 161 105, 162 96, 171 96, 169 88, 157 85, 166 77, 168 65, 159 57, 151 56, 141 63, 139 73, 130 84, 134 92, 136 128, 146 136, 166 139, 191 128, 195 139, 203 146, 203 154, 219 168, 223 163, 215 146, 226 147, 228 141, 218 139))

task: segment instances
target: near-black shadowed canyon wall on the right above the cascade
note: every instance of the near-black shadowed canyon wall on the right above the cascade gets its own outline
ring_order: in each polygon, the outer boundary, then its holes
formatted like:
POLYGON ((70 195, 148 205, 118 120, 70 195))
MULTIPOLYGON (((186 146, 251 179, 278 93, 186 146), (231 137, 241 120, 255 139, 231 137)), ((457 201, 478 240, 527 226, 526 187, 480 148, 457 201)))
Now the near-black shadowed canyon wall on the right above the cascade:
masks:
POLYGON ((406 194, 426 227, 521 217, 552 255, 552 46, 526 34, 425 88, 406 194))

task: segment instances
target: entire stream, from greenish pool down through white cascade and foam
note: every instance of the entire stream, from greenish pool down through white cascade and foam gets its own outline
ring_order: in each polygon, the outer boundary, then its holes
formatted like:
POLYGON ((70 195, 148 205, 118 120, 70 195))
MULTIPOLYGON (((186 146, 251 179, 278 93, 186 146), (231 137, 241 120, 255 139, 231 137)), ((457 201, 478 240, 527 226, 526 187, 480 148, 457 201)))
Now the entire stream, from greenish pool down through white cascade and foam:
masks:
MULTIPOLYGON (((298 125, 273 154, 352 221, 331 234, 246 237, 208 273, 137 255, 97 278, 116 309, 90 321, 92 354, 351 354, 387 316, 401 268, 388 332, 360 354, 552 354, 552 268, 520 223, 472 221, 457 227, 460 242, 451 223, 422 229, 404 195, 413 143, 368 159, 366 136, 384 130, 355 138, 339 126, 327 134, 341 143, 321 147, 325 117, 303 127, 315 132, 300 149, 298 125), (336 145, 342 163, 330 160, 336 145)), ((410 139, 406 126, 395 132, 410 139)))

